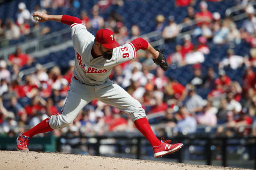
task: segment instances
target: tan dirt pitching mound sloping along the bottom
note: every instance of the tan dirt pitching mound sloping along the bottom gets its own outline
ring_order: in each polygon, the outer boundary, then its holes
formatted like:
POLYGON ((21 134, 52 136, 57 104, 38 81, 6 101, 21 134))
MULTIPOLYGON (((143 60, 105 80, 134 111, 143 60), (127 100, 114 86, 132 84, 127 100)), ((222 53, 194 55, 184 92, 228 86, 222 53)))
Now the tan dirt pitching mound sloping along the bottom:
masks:
POLYGON ((127 158, 85 156, 52 152, 1 151, 0 169, 35 170, 35 169, 236 169, 218 166, 179 164, 170 162, 154 162, 127 158))

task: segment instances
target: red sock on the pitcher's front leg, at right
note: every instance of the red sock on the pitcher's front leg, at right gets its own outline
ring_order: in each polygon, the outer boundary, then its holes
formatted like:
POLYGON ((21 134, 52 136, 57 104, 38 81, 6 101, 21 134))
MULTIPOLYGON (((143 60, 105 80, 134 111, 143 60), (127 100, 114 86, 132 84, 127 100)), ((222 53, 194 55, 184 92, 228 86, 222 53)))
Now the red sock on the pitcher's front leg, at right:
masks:
POLYGON ((134 121, 134 124, 153 147, 161 145, 161 141, 156 138, 156 135, 152 131, 146 117, 134 121))

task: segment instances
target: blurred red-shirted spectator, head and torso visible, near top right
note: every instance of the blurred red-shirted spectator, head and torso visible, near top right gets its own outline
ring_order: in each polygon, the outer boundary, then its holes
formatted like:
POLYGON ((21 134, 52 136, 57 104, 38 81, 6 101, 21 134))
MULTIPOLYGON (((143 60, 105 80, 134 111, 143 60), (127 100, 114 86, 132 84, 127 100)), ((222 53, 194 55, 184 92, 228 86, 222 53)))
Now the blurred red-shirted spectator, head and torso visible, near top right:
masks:
POLYGON ((212 13, 208 11, 207 7, 208 5, 206 2, 202 1, 200 3, 201 12, 196 13, 196 21, 198 26, 201 26, 203 23, 209 25, 213 19, 212 13))

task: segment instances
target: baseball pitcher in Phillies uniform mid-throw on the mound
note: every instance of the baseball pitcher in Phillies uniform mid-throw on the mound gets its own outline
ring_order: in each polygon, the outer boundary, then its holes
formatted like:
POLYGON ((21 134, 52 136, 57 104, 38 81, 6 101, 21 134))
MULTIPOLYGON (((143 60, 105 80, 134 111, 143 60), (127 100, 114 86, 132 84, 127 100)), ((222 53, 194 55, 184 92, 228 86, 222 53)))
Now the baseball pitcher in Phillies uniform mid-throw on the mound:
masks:
POLYGON ((70 25, 75 49, 75 68, 66 104, 61 113, 46 118, 34 128, 22 133, 17 138, 18 150, 28 151, 28 140, 38 133, 61 129, 73 123, 78 112, 93 99, 129 114, 136 128, 152 145, 155 157, 172 154, 183 146, 182 143, 171 144, 163 138, 158 140, 139 101, 108 79, 114 66, 133 60, 139 49, 149 52, 153 56, 153 61, 166 71, 168 65, 162 51, 154 49, 142 38, 119 46, 115 41, 114 33, 108 29, 98 30, 94 37, 82 21, 73 16, 47 15, 40 12, 35 12, 33 16, 38 22, 57 21, 70 25))

